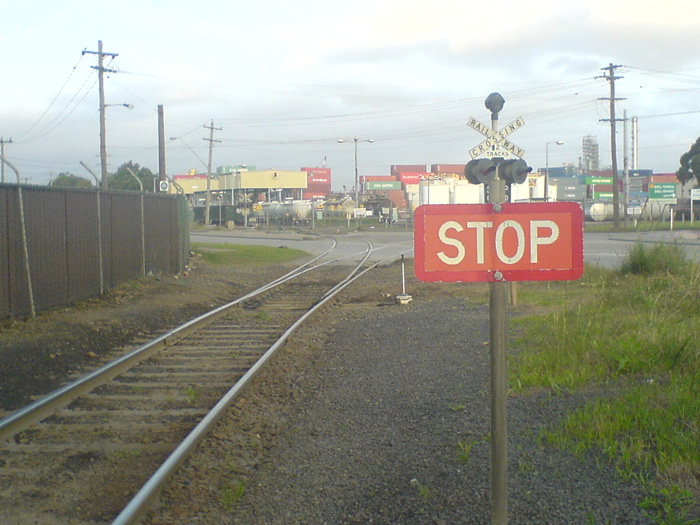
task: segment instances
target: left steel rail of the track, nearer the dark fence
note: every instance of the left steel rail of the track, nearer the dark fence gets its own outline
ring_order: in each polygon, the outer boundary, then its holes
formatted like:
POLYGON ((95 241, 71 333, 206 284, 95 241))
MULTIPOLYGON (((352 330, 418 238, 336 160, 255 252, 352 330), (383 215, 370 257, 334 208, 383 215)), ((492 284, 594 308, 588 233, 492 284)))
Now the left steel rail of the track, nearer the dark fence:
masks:
POLYGON ((334 241, 333 245, 328 250, 314 257, 310 261, 302 264, 301 266, 295 268, 294 270, 288 272, 282 277, 279 277, 274 281, 267 283, 264 286, 243 295, 242 297, 239 297, 238 299, 235 299, 229 303, 219 306, 218 308, 210 310, 209 312, 206 312, 200 315, 199 317, 196 317, 195 319, 187 321, 186 323, 178 326, 177 328, 174 328, 173 330, 170 330, 165 334, 156 337, 148 343, 139 346, 138 348, 135 348, 134 350, 124 354, 123 356, 120 356, 114 361, 111 361, 106 365, 93 370, 85 376, 54 390, 46 396, 37 399, 33 403, 30 403, 29 405, 17 410, 16 412, 13 412, 9 416, 6 416, 2 420, 0 420, 0 440, 5 439, 9 435, 23 430, 29 425, 41 421, 44 417, 46 417, 46 415, 50 414, 51 411, 55 410, 59 406, 64 405, 66 401, 75 399, 79 395, 89 392, 90 390, 95 388, 95 386, 97 386, 99 383, 112 379, 117 375, 121 374, 122 372, 128 370, 131 366, 133 366, 133 362, 136 360, 137 357, 140 359, 145 359, 146 357, 152 355, 156 351, 161 350, 167 347, 168 345, 173 344, 174 342, 182 339, 186 335, 194 332, 204 324, 207 324, 223 316, 232 307, 237 306, 240 303, 247 301, 248 299, 251 299, 256 295, 260 295, 261 293, 264 293, 276 286, 279 286, 284 282, 287 282, 301 275, 302 273, 304 273, 304 271, 308 271, 307 267, 309 265, 313 264, 314 262, 318 261, 322 257, 325 257, 330 252, 332 252, 335 249, 336 244, 337 243, 335 243, 334 241), (299 271, 300 269, 306 270, 299 271))

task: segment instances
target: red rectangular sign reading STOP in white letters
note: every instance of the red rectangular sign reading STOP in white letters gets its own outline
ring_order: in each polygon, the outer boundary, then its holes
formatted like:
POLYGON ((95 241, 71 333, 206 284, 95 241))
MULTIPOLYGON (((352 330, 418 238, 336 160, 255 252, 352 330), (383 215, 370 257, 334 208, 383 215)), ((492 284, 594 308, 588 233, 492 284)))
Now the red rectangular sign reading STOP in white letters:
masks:
POLYGON ((414 252, 421 281, 574 280, 583 211, 575 202, 419 206, 414 252))

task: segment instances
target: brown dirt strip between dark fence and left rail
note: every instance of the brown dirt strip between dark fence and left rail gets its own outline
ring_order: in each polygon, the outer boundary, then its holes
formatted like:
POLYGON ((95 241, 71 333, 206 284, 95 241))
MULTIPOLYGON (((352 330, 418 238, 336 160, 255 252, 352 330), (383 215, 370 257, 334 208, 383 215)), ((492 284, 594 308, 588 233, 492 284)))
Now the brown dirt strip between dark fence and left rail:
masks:
POLYGON ((33 319, 0 320, 0 416, 286 271, 212 267, 194 255, 179 275, 148 276, 33 319))

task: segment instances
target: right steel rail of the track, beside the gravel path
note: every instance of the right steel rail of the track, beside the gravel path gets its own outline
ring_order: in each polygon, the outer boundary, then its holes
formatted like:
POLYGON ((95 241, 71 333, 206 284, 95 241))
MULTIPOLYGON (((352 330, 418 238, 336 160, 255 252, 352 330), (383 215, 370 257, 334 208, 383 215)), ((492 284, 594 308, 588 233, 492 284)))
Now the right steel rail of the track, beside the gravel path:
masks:
POLYGON ((367 262, 372 253, 372 244, 365 240, 368 249, 362 261, 350 272, 345 279, 336 284, 331 291, 326 292, 323 298, 307 310, 297 319, 282 336, 263 354, 263 356, 241 377, 231 389, 219 400, 211 411, 199 422, 199 424, 187 435, 180 445, 168 456, 151 478, 141 487, 138 493, 131 499, 126 507, 112 522, 113 525, 125 525, 133 523, 145 511, 154 495, 163 484, 175 473, 177 468, 191 454, 194 448, 207 435, 212 426, 224 415, 236 397, 250 381, 260 372, 265 364, 277 353, 277 350, 289 339, 289 337, 301 326, 306 319, 313 315, 326 302, 337 295, 341 290, 362 276, 365 272, 375 268, 380 262, 374 263, 369 268, 358 273, 359 269, 367 262))

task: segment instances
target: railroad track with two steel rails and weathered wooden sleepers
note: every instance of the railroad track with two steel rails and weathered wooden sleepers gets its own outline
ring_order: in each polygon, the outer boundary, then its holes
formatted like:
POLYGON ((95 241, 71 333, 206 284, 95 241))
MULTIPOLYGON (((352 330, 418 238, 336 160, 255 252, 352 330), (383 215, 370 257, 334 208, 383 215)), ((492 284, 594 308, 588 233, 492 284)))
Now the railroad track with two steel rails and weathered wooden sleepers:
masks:
POLYGON ((367 244, 342 278, 318 262, 331 248, 0 420, 3 523, 136 519, 291 333, 378 264, 367 244))

